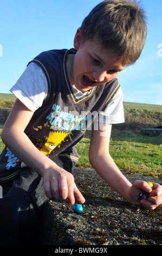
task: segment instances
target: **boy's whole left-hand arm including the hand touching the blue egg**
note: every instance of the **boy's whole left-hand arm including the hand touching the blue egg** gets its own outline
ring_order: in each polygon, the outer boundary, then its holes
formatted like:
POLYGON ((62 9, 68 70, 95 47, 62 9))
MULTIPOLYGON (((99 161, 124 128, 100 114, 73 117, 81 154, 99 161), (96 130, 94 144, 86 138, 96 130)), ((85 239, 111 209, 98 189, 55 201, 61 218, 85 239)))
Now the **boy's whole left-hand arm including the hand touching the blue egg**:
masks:
POLYGON ((47 197, 68 198, 70 204, 74 204, 75 199, 84 203, 85 199, 77 189, 73 175, 57 166, 25 135, 25 127, 33 113, 17 99, 3 127, 1 135, 3 142, 22 162, 43 176, 47 197))

